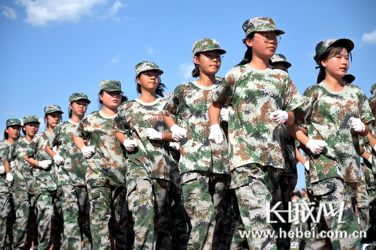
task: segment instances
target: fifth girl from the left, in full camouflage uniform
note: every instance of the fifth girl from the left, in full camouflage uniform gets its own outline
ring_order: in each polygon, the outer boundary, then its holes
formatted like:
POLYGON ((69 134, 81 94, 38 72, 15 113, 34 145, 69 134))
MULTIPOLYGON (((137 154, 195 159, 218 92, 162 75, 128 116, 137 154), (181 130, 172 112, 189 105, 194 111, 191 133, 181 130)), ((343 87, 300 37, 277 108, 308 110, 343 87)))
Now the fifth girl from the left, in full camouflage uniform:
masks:
POLYGON ((126 159, 123 146, 115 139, 112 123, 117 108, 127 98, 123 96, 120 81, 103 80, 99 87, 99 103, 103 109, 83 117, 73 140, 87 163, 85 178, 93 249, 125 249, 126 159))

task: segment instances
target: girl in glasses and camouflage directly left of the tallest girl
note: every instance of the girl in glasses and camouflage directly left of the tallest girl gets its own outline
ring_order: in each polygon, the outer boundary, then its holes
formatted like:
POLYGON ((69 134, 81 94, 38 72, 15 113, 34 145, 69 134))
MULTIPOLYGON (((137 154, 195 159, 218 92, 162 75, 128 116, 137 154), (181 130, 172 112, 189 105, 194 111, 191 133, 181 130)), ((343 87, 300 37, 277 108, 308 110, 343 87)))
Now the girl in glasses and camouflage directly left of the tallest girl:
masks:
POLYGON ((219 224, 224 217, 221 203, 229 177, 229 157, 226 141, 215 145, 208 140, 208 108, 220 83, 215 74, 225 53, 214 39, 196 41, 192 76, 199 79, 177 86, 163 109, 173 138, 180 140, 183 203, 192 224, 188 249, 217 248, 224 238, 219 224))

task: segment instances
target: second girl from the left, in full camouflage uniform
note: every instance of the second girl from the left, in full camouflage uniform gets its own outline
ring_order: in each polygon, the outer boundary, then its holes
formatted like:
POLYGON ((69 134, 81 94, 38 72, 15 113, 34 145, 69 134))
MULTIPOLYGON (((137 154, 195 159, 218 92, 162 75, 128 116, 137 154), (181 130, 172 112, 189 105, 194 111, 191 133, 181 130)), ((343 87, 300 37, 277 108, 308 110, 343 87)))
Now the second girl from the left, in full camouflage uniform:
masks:
POLYGON ((36 222, 36 200, 33 185, 33 166, 24 160, 24 155, 39 129, 38 116, 25 116, 23 130, 26 135, 10 147, 5 160, 6 181, 12 183, 12 199, 15 209, 13 243, 9 249, 29 250, 34 238, 36 222), (9 168, 9 163, 14 165, 9 168))

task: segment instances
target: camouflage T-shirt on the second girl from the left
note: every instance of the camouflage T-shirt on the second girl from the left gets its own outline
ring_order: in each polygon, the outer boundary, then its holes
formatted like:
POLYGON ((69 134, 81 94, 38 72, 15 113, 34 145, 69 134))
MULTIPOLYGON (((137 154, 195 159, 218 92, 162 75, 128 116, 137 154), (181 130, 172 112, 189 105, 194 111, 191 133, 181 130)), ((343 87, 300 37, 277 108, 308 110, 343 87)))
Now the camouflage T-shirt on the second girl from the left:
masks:
POLYGON ((13 175, 12 191, 24 190, 30 194, 33 194, 33 167, 26 166, 24 160, 24 156, 29 145, 30 142, 27 142, 25 138, 22 140, 17 140, 9 147, 6 159, 9 162, 14 161, 14 166, 11 169, 11 173, 13 175))

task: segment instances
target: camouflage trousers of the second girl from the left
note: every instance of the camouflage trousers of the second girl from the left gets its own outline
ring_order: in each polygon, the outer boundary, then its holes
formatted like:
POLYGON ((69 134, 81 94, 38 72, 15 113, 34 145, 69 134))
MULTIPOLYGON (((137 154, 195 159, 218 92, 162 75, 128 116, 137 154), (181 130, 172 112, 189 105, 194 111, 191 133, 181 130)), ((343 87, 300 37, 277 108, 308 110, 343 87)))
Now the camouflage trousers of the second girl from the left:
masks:
POLYGON ((24 190, 12 193, 16 221, 13 225, 12 249, 29 250, 34 238, 36 221, 35 195, 24 190))

